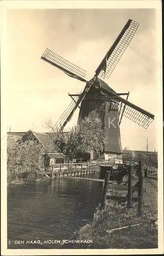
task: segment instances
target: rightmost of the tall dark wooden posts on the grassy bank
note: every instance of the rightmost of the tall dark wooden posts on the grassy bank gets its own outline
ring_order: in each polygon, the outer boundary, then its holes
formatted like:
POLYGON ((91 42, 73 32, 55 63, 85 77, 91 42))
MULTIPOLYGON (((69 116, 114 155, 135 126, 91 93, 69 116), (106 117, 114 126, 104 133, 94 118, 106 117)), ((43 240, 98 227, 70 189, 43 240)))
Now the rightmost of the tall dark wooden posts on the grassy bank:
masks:
POLYGON ((137 207, 137 216, 142 217, 143 215, 143 193, 144 193, 144 170, 143 163, 139 161, 139 190, 138 190, 138 207, 137 207))

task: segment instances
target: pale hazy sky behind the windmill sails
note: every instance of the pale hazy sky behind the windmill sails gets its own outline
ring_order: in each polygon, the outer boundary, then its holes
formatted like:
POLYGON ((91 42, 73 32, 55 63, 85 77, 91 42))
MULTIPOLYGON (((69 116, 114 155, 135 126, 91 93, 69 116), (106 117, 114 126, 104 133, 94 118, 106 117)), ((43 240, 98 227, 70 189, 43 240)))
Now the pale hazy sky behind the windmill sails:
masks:
MULTIPOLYGON (((157 117, 157 23, 155 9, 19 9, 7 11, 7 129, 48 132, 85 84, 40 57, 46 48, 87 71, 90 79, 129 18, 139 28, 109 79, 116 92, 157 117)), ((76 124, 79 110, 65 130, 76 124)), ((122 147, 157 150, 157 118, 147 130, 123 117, 122 147)))

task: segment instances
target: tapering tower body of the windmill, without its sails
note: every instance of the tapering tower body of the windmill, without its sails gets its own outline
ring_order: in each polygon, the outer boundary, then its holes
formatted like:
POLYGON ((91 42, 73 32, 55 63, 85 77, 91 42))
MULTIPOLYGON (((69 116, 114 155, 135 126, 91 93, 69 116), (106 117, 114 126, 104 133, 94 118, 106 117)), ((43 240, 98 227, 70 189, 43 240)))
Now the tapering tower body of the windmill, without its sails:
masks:
MULTIPOLYGON (((87 95, 81 102, 79 118, 84 118, 92 111, 97 111, 100 114, 102 126, 104 128, 107 140, 104 144, 103 155, 98 154, 99 157, 108 160, 116 156, 118 160, 122 159, 122 145, 120 136, 120 120, 119 120, 119 108, 118 102, 112 102, 108 95, 102 94, 101 89, 113 91, 107 83, 100 78, 97 78, 95 83, 98 89, 91 87, 87 95)), ((114 91, 113 91, 114 92, 114 91)), ((115 92, 114 92, 115 93, 115 92)), ((92 158, 95 158, 95 153, 92 152, 92 158)))

